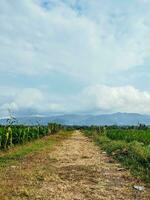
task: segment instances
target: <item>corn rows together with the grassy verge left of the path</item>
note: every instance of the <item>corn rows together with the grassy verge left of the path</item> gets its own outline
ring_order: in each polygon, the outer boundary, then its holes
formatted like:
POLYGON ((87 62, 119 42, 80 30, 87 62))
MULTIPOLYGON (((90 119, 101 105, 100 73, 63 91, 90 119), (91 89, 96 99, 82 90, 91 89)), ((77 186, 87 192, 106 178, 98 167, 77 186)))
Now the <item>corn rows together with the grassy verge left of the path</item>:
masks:
POLYGON ((48 126, 1 126, 0 169, 15 165, 28 155, 50 150, 71 134, 71 129, 55 123, 48 126))

